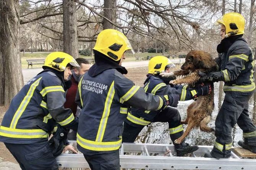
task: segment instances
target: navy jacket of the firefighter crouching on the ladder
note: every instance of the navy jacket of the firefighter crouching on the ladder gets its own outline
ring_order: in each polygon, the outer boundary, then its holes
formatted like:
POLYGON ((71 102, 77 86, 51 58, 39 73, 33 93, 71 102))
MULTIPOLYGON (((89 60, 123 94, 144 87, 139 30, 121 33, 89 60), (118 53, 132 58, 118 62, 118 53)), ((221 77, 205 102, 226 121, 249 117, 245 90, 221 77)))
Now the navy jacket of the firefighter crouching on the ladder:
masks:
MULTIPOLYGON (((180 100, 191 100, 193 95, 190 90, 186 89, 187 86, 175 86, 171 87, 164 83, 164 80, 156 77, 149 76, 144 83, 144 90, 147 93, 152 93, 156 95, 165 95, 165 94, 178 94, 180 100)), ((150 124, 159 111, 149 111, 138 108, 131 108, 128 116, 125 120, 126 123, 131 126, 146 126, 150 124)))

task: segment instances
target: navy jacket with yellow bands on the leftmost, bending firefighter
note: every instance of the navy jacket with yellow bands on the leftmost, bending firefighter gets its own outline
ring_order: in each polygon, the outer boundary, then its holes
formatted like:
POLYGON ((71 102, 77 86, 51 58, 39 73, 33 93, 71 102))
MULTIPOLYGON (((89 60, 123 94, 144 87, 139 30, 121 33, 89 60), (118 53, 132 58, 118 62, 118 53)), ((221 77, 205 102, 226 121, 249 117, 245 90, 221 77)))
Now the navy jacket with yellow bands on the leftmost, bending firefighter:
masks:
POLYGON ((48 137, 54 122, 77 128, 78 120, 64 109, 65 92, 55 73, 47 71, 32 78, 11 101, 0 127, 0 141, 36 143, 48 137))

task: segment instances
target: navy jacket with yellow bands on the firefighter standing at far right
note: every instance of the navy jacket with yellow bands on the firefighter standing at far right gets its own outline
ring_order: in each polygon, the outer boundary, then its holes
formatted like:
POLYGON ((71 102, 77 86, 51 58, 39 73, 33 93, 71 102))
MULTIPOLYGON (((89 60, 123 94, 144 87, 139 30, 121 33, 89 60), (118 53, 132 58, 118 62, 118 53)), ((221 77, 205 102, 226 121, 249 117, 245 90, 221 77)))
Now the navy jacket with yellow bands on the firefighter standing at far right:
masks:
POLYGON ((238 38, 227 52, 219 55, 216 62, 222 71, 214 74, 225 82, 224 92, 250 94, 254 91, 254 56, 243 38, 238 38))

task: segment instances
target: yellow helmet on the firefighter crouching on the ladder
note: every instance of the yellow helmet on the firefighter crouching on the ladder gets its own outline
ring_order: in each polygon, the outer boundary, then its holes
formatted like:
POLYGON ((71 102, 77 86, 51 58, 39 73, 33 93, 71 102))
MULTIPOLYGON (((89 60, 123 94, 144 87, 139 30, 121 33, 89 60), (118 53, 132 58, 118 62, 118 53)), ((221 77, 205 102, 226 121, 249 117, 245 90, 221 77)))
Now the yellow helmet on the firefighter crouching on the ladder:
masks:
POLYGON ((152 59, 149 60, 149 74, 164 72, 165 67, 175 67, 175 64, 171 62, 170 59, 168 59, 165 56, 155 56, 152 57, 152 59))

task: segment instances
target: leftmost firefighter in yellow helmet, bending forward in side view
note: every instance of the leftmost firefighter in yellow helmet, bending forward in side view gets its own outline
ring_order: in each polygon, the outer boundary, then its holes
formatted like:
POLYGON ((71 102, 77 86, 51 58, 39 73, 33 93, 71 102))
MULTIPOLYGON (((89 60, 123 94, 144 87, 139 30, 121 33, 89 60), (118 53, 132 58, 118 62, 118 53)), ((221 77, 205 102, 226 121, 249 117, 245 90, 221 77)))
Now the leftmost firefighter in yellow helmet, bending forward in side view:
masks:
POLYGON ((43 71, 24 85, 11 101, 0 127, 0 141, 15 157, 22 170, 58 170, 48 142, 57 122, 77 130, 78 119, 64 108, 65 83, 70 69, 79 67, 64 52, 50 53, 43 71))

